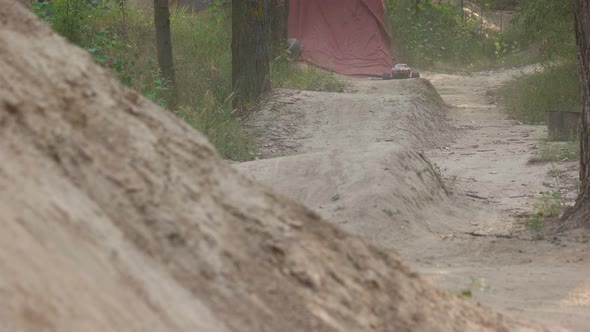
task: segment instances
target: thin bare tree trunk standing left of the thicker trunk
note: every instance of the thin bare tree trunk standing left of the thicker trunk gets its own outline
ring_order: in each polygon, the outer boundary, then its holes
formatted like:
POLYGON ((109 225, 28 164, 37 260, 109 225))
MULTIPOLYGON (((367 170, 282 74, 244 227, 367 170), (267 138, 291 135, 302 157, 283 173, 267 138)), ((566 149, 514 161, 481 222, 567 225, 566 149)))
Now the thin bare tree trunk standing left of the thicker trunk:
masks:
POLYGON ((170 92, 169 107, 176 106, 174 81, 174 61, 172 58, 172 38, 170 37, 170 9, 168 0, 154 0, 154 24, 156 28, 156 52, 162 79, 170 92))

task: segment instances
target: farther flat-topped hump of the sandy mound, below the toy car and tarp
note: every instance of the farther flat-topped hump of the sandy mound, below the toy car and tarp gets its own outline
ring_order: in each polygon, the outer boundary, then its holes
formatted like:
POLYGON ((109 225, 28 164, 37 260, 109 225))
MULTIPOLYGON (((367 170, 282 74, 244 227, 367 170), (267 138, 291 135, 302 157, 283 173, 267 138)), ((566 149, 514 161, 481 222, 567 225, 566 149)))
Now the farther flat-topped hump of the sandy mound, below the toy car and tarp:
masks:
POLYGON ((375 142, 427 147, 452 136, 446 107, 428 81, 359 80, 354 92, 275 90, 245 122, 259 134, 258 158, 375 142))

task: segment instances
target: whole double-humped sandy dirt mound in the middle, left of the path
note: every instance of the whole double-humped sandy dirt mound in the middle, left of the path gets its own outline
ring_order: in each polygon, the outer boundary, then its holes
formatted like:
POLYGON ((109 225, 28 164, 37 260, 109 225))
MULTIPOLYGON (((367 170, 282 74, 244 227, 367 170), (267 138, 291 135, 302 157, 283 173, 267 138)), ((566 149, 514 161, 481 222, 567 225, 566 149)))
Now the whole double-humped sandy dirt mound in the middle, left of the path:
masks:
POLYGON ((246 119, 261 159, 235 167, 402 254, 431 247, 438 233, 466 231, 438 166, 420 152, 454 137, 432 84, 353 79, 349 90, 274 91, 246 119), (447 222, 438 222, 442 216, 447 222))

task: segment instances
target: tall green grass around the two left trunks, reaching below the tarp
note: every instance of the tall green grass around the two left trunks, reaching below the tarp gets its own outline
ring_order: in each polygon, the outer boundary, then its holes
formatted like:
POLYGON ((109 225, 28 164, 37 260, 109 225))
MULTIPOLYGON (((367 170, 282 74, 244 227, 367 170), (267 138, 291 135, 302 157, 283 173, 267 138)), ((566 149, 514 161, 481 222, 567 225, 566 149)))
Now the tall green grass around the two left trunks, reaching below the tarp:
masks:
MULTIPOLYGON (((158 75, 151 3, 123 8, 114 3, 92 7, 86 0, 54 0, 34 10, 58 33, 88 50, 97 63, 113 70, 123 84, 167 107, 171 91, 158 75)), ((224 158, 242 161, 252 159, 255 145, 253 135, 232 115, 230 9, 219 4, 199 13, 172 9, 178 105, 171 111, 205 134, 224 158)), ((286 61, 273 66, 272 84, 321 91, 344 87, 333 73, 300 69, 286 61)))

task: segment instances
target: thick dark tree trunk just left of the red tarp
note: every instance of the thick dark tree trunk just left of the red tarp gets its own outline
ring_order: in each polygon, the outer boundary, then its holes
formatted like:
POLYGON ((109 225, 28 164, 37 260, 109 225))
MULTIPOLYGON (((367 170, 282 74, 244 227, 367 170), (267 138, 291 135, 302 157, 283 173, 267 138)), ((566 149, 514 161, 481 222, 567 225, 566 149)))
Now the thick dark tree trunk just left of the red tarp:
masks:
POLYGON ((270 89, 269 2, 232 1, 232 84, 239 111, 270 89))

